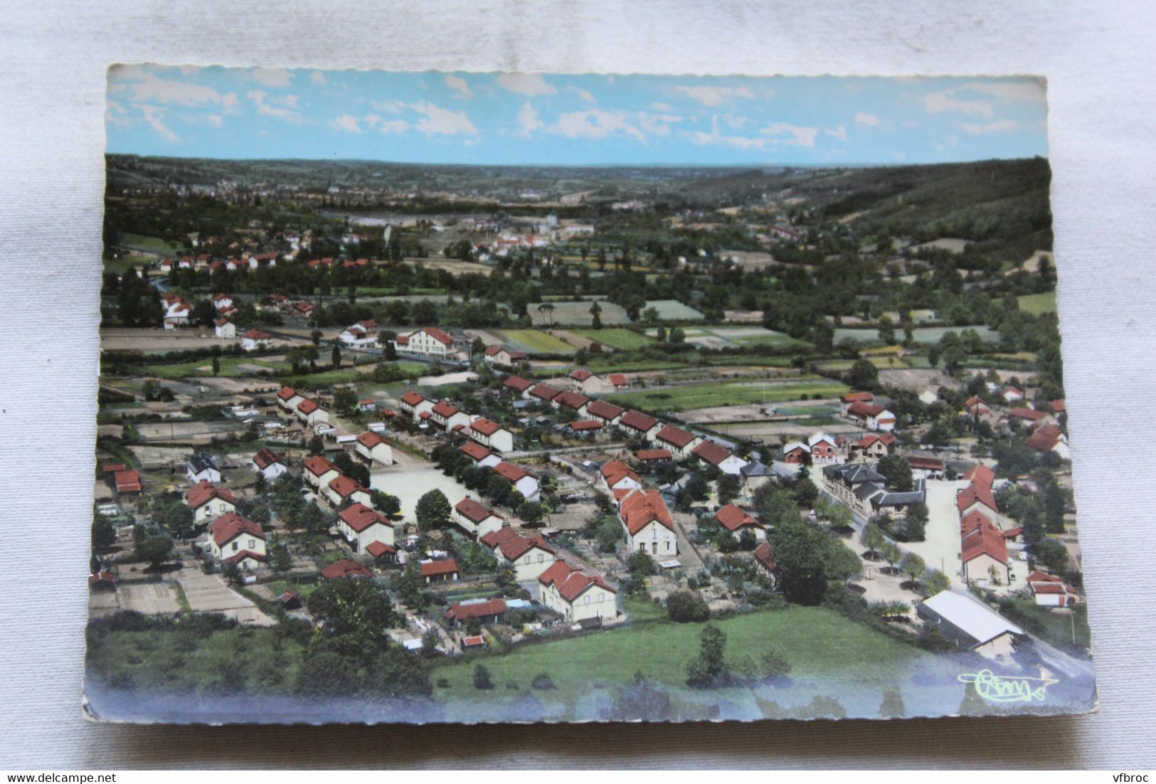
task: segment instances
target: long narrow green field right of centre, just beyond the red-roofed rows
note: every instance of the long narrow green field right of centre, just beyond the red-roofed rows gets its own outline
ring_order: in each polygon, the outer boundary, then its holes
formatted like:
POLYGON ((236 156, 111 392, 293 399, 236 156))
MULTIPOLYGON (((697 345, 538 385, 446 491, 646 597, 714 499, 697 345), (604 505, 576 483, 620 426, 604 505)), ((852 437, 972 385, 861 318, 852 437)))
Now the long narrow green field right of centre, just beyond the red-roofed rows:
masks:
POLYGON ((690 411, 716 406, 742 406, 753 402, 778 402, 800 400, 820 394, 833 398, 850 389, 838 382, 817 379, 812 382, 763 384, 739 382, 732 384, 706 383, 672 386, 661 390, 636 390, 618 392, 609 398, 618 406, 640 407, 652 411, 690 411))

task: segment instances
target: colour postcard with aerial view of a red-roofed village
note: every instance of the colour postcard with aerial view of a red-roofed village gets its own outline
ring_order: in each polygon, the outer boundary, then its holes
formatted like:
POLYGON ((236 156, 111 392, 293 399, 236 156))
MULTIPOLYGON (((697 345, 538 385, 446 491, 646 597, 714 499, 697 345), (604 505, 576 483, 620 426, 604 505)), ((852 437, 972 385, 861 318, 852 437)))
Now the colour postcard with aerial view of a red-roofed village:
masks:
POLYGON ((87 713, 1080 713, 1046 83, 114 66, 87 713))

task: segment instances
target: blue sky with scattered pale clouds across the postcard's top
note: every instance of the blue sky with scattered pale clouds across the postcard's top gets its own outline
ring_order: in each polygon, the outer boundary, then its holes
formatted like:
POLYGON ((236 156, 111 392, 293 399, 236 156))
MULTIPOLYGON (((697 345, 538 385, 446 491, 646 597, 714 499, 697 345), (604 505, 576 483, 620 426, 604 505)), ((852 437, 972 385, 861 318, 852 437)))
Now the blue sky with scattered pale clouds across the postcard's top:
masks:
POLYGON ((479 164, 938 163, 1047 155, 1030 77, 116 66, 110 153, 479 164))

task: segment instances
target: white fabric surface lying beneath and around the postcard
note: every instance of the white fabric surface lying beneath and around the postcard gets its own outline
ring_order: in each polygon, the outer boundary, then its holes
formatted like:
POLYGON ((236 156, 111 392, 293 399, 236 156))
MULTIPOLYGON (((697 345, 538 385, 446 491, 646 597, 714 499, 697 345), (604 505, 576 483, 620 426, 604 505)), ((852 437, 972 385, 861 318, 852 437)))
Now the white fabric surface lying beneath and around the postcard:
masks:
POLYGON ((1150 3, 57 0, 0 10, 0 768, 1156 765, 1150 3), (1101 712, 577 728, 86 723, 104 71, 116 61, 1046 75, 1101 712))

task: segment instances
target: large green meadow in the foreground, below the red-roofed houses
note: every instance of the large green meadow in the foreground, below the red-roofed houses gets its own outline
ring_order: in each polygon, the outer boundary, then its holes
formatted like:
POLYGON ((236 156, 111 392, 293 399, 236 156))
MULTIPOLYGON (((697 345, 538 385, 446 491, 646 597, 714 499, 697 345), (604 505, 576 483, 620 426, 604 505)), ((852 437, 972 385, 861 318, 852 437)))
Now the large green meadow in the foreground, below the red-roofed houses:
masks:
MULTIPOLYGON (((556 687, 551 698, 568 702, 588 691, 592 682, 625 683, 636 672, 682 686, 687 661, 698 652, 703 624, 659 620, 661 615, 654 612, 646 615, 650 620, 632 628, 524 645, 481 661, 499 687, 512 681, 525 690, 534 675, 547 673, 556 687)), ((821 607, 747 613, 718 624, 727 636, 728 660, 757 659, 775 646, 791 665, 792 678, 846 678, 847 668, 853 667, 860 683, 892 683, 910 672, 914 660, 928 656, 821 607)), ((473 686, 477 663, 469 659, 436 667, 435 680, 444 678, 450 688, 437 688, 435 695, 440 700, 492 700, 492 691, 473 686)))

